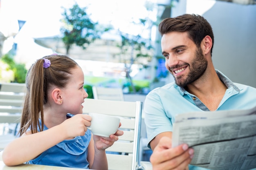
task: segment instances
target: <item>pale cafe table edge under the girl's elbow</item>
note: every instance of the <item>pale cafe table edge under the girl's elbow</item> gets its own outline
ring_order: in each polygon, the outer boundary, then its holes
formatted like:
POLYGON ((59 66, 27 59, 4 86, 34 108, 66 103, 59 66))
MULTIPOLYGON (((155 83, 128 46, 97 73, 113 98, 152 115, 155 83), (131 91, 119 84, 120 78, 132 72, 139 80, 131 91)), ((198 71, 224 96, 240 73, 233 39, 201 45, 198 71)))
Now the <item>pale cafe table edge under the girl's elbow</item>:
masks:
POLYGON ((0 170, 84 170, 82 168, 67 168, 60 166, 22 164, 18 166, 6 166, 0 161, 0 170))

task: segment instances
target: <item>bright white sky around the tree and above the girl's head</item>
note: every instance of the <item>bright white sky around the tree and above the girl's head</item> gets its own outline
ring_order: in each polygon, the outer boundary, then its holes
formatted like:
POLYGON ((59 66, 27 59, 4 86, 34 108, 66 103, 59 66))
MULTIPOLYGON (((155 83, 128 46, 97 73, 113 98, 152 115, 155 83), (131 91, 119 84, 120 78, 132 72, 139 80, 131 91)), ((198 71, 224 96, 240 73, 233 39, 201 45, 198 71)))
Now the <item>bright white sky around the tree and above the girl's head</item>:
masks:
MULTIPOLYGON (((74 0, 0 0, 2 16, 10 20, 26 21, 14 38, 18 44, 16 61, 31 65, 38 57, 52 53, 34 43, 33 38, 60 34, 62 8, 70 8, 74 0), (4 13, 4 15, 3 15, 4 13), (35 57, 38 56, 38 57, 35 57)), ((155 2, 156 0, 148 0, 155 2)), ((137 35, 141 30, 130 24, 137 18, 150 17, 154 20, 156 11, 148 13, 145 0, 76 0, 80 7, 87 7, 91 19, 100 24, 111 24, 115 29, 137 35)), ((1 24, 2 25, 2 24, 1 24)), ((9 26, 14 28, 13 26, 9 26)), ((10 30, 10 29, 8 29, 10 30)))

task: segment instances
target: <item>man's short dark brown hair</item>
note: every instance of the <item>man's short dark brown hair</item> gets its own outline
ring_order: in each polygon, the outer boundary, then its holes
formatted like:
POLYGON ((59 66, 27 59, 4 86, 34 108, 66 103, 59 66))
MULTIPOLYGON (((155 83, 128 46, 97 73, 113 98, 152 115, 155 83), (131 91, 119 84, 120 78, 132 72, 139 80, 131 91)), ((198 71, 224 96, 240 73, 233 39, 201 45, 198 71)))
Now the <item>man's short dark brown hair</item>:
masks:
MULTIPOLYGON (((163 36, 173 31, 187 32, 189 38, 200 47, 205 36, 209 35, 214 42, 213 31, 209 22, 204 17, 195 14, 183 14, 175 18, 166 18, 158 26, 158 30, 163 36)), ((212 53, 213 45, 211 47, 212 53)))

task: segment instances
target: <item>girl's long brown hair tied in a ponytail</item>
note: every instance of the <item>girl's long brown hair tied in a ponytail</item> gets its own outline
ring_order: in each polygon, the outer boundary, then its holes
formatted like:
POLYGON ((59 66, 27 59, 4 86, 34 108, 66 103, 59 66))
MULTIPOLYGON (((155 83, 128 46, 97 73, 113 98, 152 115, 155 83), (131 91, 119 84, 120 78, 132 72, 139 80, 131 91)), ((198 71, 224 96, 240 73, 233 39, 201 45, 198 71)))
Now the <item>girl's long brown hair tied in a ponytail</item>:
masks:
POLYGON ((43 130, 43 106, 47 104, 47 92, 51 86, 65 87, 71 77, 71 69, 78 64, 66 55, 47 55, 37 60, 29 69, 26 77, 26 95, 20 120, 20 136, 29 128, 32 133, 43 130), (44 68, 44 59, 51 64, 44 68), (42 124, 39 125, 39 118, 42 124))

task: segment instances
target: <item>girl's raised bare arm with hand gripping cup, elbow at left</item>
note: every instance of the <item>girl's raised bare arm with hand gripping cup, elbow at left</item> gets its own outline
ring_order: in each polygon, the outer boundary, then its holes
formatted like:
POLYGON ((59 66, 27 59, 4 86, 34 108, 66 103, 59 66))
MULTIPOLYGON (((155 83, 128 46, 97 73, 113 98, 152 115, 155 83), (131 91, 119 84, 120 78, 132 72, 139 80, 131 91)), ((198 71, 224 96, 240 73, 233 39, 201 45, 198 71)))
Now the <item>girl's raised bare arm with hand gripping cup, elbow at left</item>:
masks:
POLYGON ((7 166, 16 166, 36 158, 45 150, 70 137, 83 136, 90 126, 88 115, 75 115, 42 132, 26 132, 4 148, 2 159, 7 166), (88 120, 87 120, 88 119, 88 120))

